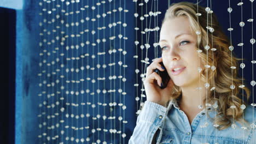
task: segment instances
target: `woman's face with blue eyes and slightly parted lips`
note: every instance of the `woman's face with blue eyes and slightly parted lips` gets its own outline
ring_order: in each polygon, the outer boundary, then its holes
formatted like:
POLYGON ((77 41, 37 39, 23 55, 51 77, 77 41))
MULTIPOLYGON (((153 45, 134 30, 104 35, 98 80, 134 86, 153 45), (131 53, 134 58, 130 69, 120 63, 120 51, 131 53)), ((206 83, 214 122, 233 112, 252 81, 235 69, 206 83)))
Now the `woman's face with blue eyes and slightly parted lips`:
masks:
MULTIPOLYGON (((197 35, 191 31, 187 17, 167 19, 161 27, 159 45, 162 61, 174 84, 179 87, 197 86, 199 82, 196 40, 197 35)), ((201 62, 200 65, 203 69, 201 62)))

